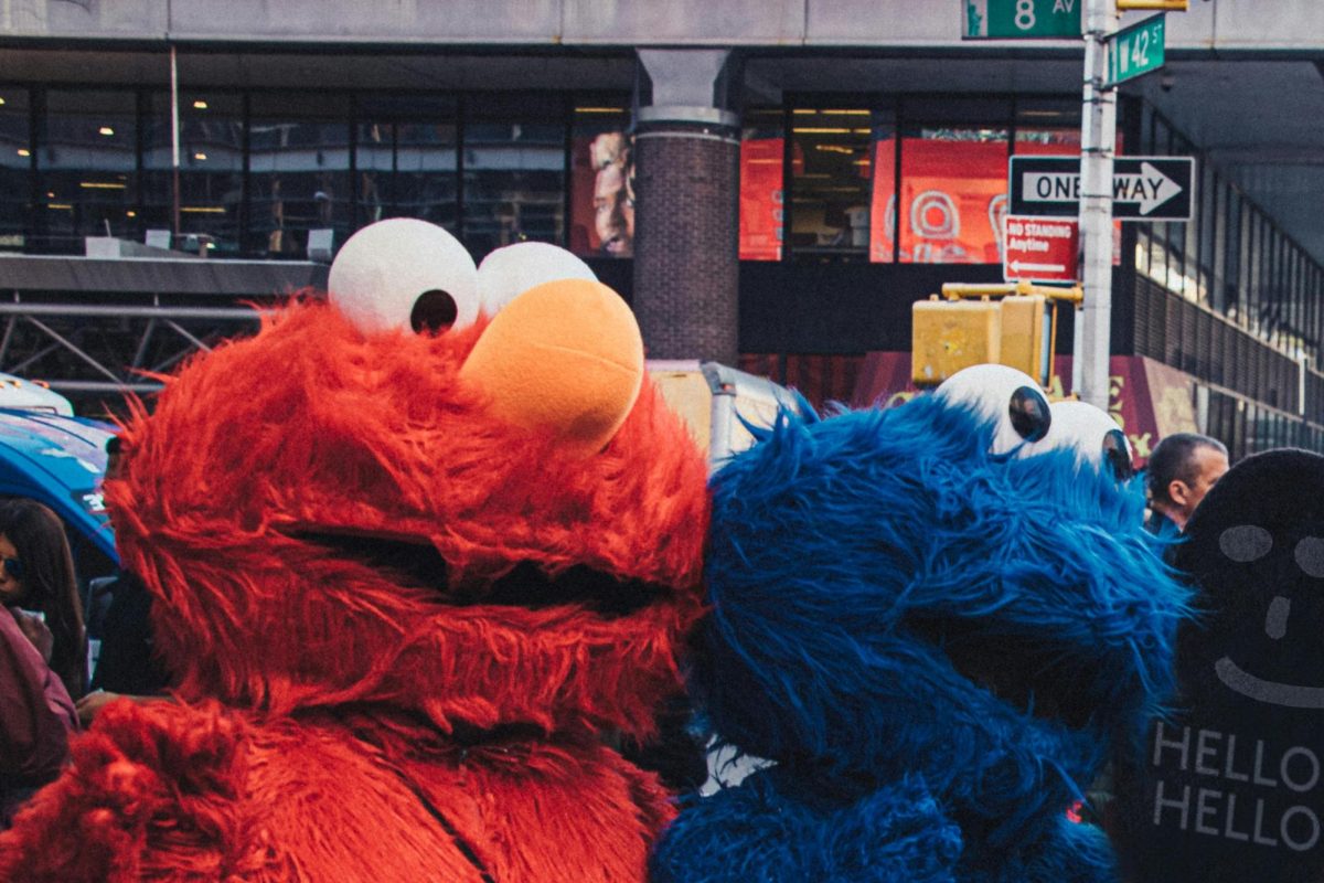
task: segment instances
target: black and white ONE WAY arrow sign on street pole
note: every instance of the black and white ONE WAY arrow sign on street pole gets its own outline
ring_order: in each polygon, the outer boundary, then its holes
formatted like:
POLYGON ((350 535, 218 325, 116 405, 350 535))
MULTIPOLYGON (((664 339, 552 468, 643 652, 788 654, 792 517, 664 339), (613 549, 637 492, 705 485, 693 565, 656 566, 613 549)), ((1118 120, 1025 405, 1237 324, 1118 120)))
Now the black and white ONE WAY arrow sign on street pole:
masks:
MULTIPOLYGON (((1112 217, 1123 221, 1189 221, 1189 156, 1119 156, 1112 162, 1112 217)), ((1010 214, 1072 217, 1080 212, 1079 156, 1013 156, 1010 214)))

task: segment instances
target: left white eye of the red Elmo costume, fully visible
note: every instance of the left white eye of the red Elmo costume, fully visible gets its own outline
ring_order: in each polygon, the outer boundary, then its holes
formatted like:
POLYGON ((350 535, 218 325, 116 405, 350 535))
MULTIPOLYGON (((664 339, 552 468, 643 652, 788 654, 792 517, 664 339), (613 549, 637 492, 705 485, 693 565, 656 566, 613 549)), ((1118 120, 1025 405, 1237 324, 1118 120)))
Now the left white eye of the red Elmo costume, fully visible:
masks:
POLYGON ((450 233, 416 218, 377 221, 351 236, 331 263, 327 291, 367 334, 436 334, 478 318, 474 259, 450 233))

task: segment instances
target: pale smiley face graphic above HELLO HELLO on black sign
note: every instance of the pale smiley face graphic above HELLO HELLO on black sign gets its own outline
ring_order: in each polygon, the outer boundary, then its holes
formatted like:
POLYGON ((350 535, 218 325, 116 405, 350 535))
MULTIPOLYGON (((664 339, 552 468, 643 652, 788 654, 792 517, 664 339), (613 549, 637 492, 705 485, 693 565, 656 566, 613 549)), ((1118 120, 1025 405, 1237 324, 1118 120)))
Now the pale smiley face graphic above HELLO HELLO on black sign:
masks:
MULTIPOLYGON (((1274 536, 1263 527, 1241 524, 1229 527, 1218 536, 1218 548, 1233 561, 1247 564, 1264 557, 1274 548, 1274 536)), ((1292 549, 1296 565, 1312 577, 1324 579, 1324 539, 1307 536, 1292 549)), ((1264 634, 1272 641, 1282 641, 1287 634, 1287 617, 1292 612, 1292 600, 1282 594, 1274 596, 1264 613, 1264 634)), ((1246 671, 1231 657, 1223 657, 1214 663, 1214 673, 1229 690, 1247 699, 1286 708, 1324 708, 1324 687, 1303 687, 1299 684, 1266 680, 1246 671)))

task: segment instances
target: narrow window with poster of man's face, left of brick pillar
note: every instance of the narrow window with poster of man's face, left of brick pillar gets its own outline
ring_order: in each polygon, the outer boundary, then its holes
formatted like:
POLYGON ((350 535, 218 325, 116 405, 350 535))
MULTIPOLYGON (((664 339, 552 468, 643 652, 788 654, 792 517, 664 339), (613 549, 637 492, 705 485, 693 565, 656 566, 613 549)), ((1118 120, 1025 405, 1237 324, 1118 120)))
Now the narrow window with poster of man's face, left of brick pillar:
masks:
MULTIPOLYGON (((634 254, 634 138, 620 102, 581 102, 571 132, 571 252, 634 254)), ((779 165, 781 156, 777 156, 779 165)), ((779 179, 777 187, 781 187, 779 179)))

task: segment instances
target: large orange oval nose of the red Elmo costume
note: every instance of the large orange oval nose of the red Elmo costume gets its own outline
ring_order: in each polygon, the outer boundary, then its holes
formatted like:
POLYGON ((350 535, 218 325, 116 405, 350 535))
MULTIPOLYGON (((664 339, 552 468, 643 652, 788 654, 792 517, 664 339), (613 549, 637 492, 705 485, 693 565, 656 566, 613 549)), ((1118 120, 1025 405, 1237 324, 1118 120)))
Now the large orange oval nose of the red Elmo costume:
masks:
POLYGON ((482 387, 503 420, 596 453, 639 395, 643 339, 634 314, 601 282, 545 282, 496 314, 461 377, 482 387))

